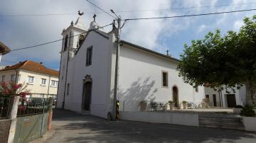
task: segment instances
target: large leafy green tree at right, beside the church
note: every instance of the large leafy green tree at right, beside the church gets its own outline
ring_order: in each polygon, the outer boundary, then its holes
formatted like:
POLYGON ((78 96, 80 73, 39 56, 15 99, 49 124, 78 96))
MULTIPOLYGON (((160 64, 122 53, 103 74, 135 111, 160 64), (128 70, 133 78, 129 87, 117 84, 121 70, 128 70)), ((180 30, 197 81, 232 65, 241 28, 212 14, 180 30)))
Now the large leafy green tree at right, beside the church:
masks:
POLYGON ((233 90, 245 85, 246 103, 256 104, 256 16, 244 18, 238 33, 216 30, 184 47, 177 70, 186 83, 233 90))

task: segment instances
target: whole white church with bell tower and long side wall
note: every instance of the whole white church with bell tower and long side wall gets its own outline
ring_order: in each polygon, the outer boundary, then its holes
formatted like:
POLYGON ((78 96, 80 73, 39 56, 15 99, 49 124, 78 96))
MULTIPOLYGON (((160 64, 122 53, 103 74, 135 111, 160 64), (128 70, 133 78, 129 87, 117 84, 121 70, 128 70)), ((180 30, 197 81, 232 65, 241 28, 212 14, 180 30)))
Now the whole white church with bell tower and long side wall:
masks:
MULTIPOLYGON (((57 107, 107 118, 113 106, 116 37, 102 28, 92 30, 99 27, 95 19, 85 28, 81 18, 62 33, 57 107)), ((199 105, 206 97, 203 86, 193 88, 178 76, 179 60, 174 57, 124 40, 119 54, 121 110, 137 111, 141 101, 174 101, 177 108, 182 101, 199 105)))

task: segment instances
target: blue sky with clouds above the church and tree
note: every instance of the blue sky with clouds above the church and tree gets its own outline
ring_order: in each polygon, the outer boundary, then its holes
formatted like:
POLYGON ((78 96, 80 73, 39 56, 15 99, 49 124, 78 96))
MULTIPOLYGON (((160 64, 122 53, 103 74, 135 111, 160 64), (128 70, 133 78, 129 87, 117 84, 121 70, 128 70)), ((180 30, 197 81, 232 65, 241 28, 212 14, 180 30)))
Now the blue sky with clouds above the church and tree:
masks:
MULTIPOLYGON (((198 13, 220 11, 236 11, 256 8, 256 0, 91 0, 98 6, 109 11, 134 11, 118 13, 122 18, 149 18, 159 16, 181 16, 198 13), (218 6, 216 6, 218 5, 218 6), (228 6, 220 6, 228 5, 228 6), (202 7, 211 6, 211 7, 202 7), (188 8, 201 7, 201 8, 188 8), (166 8, 182 8, 163 10, 166 8), (155 11, 161 9, 161 11, 155 11), (149 11, 150 10, 150 11, 149 11)), ((97 8, 84 0, 1 0, 0 15, 70 13, 63 16, 0 16, 0 41, 11 49, 38 45, 43 42, 61 39, 60 33, 71 21, 78 18, 77 11, 99 12, 97 8)), ((83 21, 88 28, 92 21, 92 13, 85 14, 83 21)), ((191 40, 201 39, 209 31, 220 29, 238 31, 242 18, 253 16, 256 11, 228 13, 215 16, 197 16, 190 18, 171 18, 150 21, 128 21, 122 29, 122 39, 137 45, 148 47, 157 52, 166 53, 169 49, 173 57, 179 58, 183 45, 191 40)), ((97 23, 105 25, 112 18, 105 13, 98 13, 97 23)), ((108 32, 110 28, 105 28, 108 32)), ((20 50, 5 55, 0 65, 14 64, 26 59, 43 62, 46 67, 58 69, 60 62, 61 42, 44 45, 29 50, 20 50), (9 62, 6 62, 9 61, 9 62)))

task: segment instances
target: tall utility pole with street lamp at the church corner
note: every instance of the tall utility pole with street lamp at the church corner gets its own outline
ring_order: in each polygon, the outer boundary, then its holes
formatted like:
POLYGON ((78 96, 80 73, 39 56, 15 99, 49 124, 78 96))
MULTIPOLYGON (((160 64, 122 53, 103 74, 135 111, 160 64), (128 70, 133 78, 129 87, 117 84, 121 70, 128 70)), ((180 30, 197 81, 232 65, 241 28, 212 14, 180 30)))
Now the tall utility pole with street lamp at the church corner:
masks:
MULTIPOLYGON (((110 10, 112 13, 114 13, 113 10, 110 10)), ((117 16, 114 13, 115 16, 117 16)), ((114 24, 114 23, 113 23, 114 24)), ((120 31, 121 31, 121 16, 117 16, 117 49, 116 49, 116 62, 115 62, 115 70, 114 70, 114 98, 113 98, 113 111, 112 111, 112 119, 117 120, 116 112, 117 112, 117 86, 118 86, 118 76, 119 76, 119 42, 120 42, 120 31)))

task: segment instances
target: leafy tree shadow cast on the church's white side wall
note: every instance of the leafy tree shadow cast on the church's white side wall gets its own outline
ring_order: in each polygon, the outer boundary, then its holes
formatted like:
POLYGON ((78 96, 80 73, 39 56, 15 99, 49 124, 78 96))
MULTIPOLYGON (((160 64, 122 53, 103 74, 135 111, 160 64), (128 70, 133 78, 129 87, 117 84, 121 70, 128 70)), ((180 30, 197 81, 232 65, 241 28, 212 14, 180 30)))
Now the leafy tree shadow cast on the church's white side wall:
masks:
POLYGON ((126 90, 119 87, 119 103, 122 107, 120 110, 124 111, 136 111, 139 110, 139 102, 141 101, 154 101, 154 93, 157 92, 157 88, 153 88, 155 81, 150 80, 150 76, 142 80, 142 78, 134 81, 126 90))

